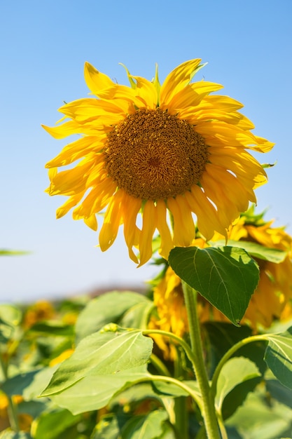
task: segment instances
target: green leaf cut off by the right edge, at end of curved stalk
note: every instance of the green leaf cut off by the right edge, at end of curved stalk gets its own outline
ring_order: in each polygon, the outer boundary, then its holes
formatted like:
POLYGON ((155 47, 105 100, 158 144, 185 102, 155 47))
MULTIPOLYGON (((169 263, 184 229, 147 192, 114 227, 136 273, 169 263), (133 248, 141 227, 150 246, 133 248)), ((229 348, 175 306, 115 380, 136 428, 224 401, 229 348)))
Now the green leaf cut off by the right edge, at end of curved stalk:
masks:
POLYGON ((265 361, 281 384, 292 389, 292 327, 281 334, 267 334, 265 361))

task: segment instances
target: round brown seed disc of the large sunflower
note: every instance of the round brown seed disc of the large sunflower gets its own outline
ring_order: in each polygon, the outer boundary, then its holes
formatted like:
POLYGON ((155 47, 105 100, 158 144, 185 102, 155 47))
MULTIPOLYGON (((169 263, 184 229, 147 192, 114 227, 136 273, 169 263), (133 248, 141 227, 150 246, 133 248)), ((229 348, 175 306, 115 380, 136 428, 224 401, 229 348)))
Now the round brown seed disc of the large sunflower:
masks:
POLYGON ((208 158, 193 126, 159 108, 139 110, 114 126, 104 154, 118 187, 144 200, 183 194, 200 181, 208 158))

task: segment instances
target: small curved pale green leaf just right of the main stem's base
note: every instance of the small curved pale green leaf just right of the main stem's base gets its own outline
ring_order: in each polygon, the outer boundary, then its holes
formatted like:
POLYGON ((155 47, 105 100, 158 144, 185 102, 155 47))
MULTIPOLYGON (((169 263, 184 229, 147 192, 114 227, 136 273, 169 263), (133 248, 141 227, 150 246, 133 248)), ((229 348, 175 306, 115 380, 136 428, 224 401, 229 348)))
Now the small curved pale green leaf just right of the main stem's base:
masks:
POLYGON ((218 409, 221 410, 225 396, 227 396, 232 389, 235 389, 235 387, 243 381, 255 377, 260 377, 260 372, 258 371, 258 367, 248 358, 235 357, 228 360, 228 362, 223 365, 217 381, 215 403, 218 409))

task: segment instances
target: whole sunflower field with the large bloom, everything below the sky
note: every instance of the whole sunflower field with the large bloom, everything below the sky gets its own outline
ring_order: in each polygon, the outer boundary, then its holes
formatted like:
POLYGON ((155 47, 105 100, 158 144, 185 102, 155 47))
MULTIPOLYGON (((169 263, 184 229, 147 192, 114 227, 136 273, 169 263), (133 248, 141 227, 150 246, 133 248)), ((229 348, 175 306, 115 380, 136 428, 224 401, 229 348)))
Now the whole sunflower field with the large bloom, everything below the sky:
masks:
POLYGON ((0 305, 0 439, 291 438, 292 238, 256 212, 270 165, 251 154, 274 144, 193 81, 202 67, 162 84, 125 67, 123 86, 87 62, 91 96, 44 126, 75 136, 46 164, 57 218, 100 219, 102 251, 123 228, 160 273, 144 292, 0 305))

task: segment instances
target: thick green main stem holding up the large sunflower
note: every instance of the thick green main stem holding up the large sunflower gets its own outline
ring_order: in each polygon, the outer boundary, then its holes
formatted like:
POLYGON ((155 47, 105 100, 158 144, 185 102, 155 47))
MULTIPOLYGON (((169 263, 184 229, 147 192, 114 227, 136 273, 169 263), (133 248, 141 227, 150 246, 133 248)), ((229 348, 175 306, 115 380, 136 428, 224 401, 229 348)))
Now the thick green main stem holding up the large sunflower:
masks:
POLYGON ((197 315, 197 292, 183 281, 182 285, 183 296, 188 314, 190 346, 195 358, 195 361, 192 361, 192 363, 202 397, 202 417, 204 418, 204 426, 206 428, 208 439, 220 439, 214 396, 212 395, 211 388, 209 386, 207 370, 204 365, 202 353, 200 322, 197 315))

